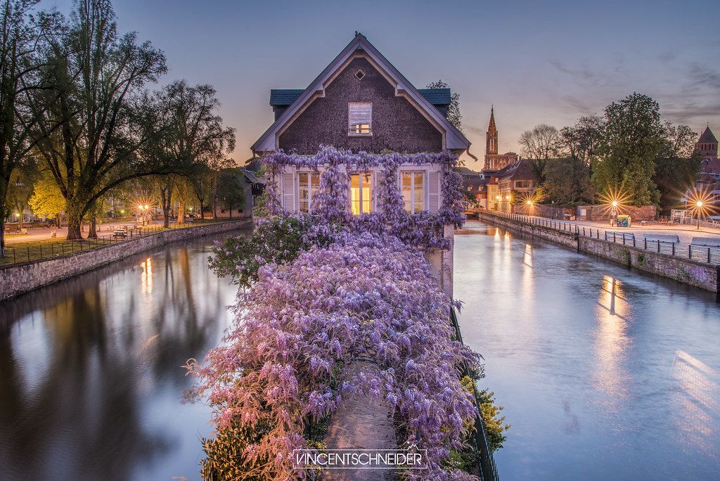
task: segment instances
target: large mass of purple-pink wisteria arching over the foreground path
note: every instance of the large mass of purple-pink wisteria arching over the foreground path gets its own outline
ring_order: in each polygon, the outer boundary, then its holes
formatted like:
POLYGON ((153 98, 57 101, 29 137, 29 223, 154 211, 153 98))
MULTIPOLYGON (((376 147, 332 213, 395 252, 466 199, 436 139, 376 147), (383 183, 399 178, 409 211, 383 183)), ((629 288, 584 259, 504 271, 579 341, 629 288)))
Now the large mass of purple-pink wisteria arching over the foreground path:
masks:
POLYGON ((309 476, 292 468, 292 450, 352 393, 384 397, 407 423, 399 444, 428 450, 430 468, 408 476, 463 477, 444 466, 477 415, 459 367, 479 356, 453 340, 451 300, 420 251, 388 235, 340 234, 262 266, 240 299, 223 345, 189 368, 218 433, 253 433, 242 458, 258 479, 309 476), (352 372, 354 359, 377 369, 352 372))

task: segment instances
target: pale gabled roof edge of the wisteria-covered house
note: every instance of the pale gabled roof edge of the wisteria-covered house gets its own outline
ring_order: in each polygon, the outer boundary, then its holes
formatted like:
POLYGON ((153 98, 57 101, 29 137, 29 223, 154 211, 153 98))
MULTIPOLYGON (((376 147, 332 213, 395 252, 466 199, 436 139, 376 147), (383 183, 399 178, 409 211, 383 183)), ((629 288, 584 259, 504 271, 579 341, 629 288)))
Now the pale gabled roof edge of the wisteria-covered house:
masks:
POLYGON ((397 68, 392 66, 392 63, 390 63, 387 58, 384 58, 382 53, 379 53, 364 35, 357 34, 353 40, 343 48, 341 53, 330 62, 330 65, 325 67, 325 70, 323 70, 315 80, 310 82, 307 89, 303 90, 302 93, 294 99, 292 104, 282 112, 273 125, 253 144, 253 152, 275 150, 277 137, 279 132, 282 132, 283 127, 289 124, 291 120, 294 120, 295 115, 298 114, 303 107, 312 102, 315 96, 323 96, 325 94, 325 87, 333 80, 336 71, 343 67, 346 60, 358 52, 367 55, 388 78, 392 79, 392 82, 395 83, 396 95, 408 97, 408 99, 412 101, 411 103, 414 103, 428 120, 438 126, 443 134, 444 148, 449 150, 466 150, 469 148, 470 141, 462 135, 462 132, 457 130, 457 128, 445 118, 444 114, 434 107, 432 102, 423 96, 423 94, 420 94, 420 91, 415 89, 413 84, 410 84, 410 81, 408 81, 402 73, 397 71, 397 68))

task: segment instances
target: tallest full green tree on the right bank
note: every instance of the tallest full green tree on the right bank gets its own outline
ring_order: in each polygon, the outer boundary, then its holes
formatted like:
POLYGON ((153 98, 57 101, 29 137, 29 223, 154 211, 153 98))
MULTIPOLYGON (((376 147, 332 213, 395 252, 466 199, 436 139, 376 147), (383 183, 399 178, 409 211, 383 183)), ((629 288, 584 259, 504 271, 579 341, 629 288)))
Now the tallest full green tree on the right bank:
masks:
POLYGON ((604 134, 593 166, 598 192, 618 190, 634 205, 659 202, 652 178, 655 159, 665 145, 665 130, 657 102, 635 92, 608 105, 604 134))

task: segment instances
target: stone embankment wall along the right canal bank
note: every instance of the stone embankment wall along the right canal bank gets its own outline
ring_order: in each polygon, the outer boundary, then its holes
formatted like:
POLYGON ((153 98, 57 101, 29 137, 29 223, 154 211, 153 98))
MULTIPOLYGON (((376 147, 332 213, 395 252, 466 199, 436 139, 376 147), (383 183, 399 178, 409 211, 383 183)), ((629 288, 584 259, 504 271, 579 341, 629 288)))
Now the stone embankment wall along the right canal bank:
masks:
POLYGON ((670 256, 670 254, 645 251, 642 248, 623 246, 608 240, 562 232, 521 220, 498 217, 486 212, 480 212, 478 216, 481 220, 551 240, 578 252, 590 253, 641 271, 669 277, 708 291, 719 292, 720 266, 684 259, 680 256, 670 256))

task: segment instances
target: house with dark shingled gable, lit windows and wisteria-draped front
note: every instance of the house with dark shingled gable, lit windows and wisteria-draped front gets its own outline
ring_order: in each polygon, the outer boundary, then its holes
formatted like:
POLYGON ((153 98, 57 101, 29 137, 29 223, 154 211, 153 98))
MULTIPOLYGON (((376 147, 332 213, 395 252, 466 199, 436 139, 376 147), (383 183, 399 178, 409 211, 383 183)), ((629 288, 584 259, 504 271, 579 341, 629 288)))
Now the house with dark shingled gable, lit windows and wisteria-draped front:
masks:
MULTIPOLYGON (((397 191, 404 215, 440 218, 452 200, 443 180, 459 177, 451 171, 454 156, 470 146, 446 118, 450 96, 450 89, 416 89, 356 33, 305 89, 270 91, 274 122, 252 150, 266 165, 271 202, 285 212, 322 208, 320 179, 332 173, 344 179, 334 195, 348 214, 382 215, 390 209, 383 199, 397 191)), ((451 223, 440 233, 445 246, 451 223)), ((451 292, 451 248, 424 252, 451 292)))

